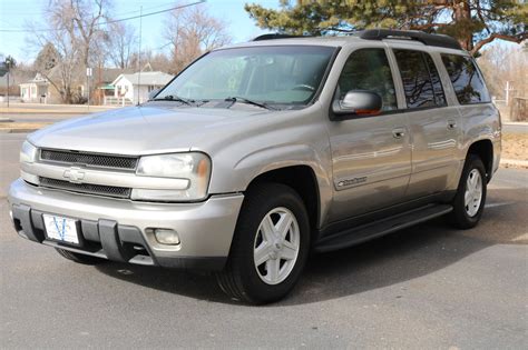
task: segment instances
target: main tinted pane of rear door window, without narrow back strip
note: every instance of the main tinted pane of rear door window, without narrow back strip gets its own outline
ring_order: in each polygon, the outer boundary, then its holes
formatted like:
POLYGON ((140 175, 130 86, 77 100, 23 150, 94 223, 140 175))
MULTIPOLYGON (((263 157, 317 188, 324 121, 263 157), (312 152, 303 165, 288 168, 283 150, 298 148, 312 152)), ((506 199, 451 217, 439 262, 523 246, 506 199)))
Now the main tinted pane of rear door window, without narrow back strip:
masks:
POLYGON ((394 50, 408 108, 436 107, 433 82, 423 53, 394 50))

